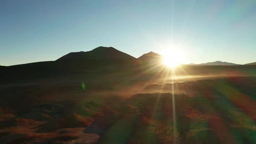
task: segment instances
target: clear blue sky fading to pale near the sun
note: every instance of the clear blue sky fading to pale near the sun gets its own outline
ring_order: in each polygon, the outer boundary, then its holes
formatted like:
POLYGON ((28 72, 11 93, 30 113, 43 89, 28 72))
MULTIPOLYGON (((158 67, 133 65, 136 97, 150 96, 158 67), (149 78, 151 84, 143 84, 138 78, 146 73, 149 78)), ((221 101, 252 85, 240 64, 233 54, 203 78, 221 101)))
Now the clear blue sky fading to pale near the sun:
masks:
POLYGON ((256 62, 256 0, 0 0, 0 65, 112 46, 186 63, 256 62))

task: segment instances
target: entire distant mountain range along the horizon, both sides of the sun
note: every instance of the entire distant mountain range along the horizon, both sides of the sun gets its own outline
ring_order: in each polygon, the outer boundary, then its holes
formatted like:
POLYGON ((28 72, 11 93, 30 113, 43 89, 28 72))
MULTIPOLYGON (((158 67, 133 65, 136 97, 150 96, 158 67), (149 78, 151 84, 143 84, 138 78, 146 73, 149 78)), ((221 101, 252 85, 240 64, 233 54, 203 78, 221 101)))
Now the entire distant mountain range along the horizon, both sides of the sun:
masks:
MULTIPOLYGON (((95 49, 92 49, 91 51, 87 52, 70 52, 66 54, 65 56, 62 56, 61 58, 57 59, 57 62, 62 62, 62 61, 68 61, 68 62, 84 62, 87 60, 114 60, 115 62, 119 61, 124 61, 128 62, 129 60, 140 60, 140 61, 148 61, 148 62, 160 62, 163 56, 161 56, 158 53, 155 52, 148 52, 143 54, 142 56, 138 57, 137 59, 131 55, 128 55, 125 52, 121 52, 113 47, 104 47, 104 46, 99 46, 95 49)), ((230 62, 221 62, 221 61, 216 61, 216 62, 207 62, 207 63, 201 63, 201 64, 194 64, 190 63, 187 65, 239 65, 235 63, 230 63, 230 62)), ((256 65, 256 62, 253 63, 248 63, 245 65, 256 65)), ((4 67, 1 66, 0 67, 4 67)))

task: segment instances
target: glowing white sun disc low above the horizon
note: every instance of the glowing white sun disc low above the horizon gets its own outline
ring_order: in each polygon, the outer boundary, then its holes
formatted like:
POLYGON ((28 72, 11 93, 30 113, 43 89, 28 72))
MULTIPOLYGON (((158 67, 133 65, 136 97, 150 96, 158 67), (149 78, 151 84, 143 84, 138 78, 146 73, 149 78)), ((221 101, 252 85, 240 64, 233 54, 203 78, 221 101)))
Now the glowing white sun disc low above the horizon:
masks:
POLYGON ((175 68, 184 61, 184 52, 180 49, 169 49, 163 52, 162 63, 168 67, 175 68))

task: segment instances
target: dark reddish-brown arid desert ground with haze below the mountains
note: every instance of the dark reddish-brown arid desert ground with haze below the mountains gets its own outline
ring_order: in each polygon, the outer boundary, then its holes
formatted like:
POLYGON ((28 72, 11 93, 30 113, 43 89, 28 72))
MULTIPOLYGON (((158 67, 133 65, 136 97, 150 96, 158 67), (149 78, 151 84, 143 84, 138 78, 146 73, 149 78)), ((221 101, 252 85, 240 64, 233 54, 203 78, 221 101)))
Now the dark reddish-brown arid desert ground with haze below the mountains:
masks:
POLYGON ((256 143, 254 65, 56 63, 1 68, 1 144, 256 143))

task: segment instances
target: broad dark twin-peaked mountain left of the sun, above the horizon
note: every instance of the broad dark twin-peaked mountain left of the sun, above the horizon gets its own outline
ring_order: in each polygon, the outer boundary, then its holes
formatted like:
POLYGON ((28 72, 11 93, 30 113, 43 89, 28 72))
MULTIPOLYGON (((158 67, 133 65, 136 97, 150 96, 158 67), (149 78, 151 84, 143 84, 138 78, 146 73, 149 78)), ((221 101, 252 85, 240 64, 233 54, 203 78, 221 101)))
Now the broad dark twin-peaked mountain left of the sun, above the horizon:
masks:
POLYGON ((70 52, 69 54, 62 56, 61 58, 57 59, 56 61, 62 60, 99 60, 99 59, 136 59, 133 56, 126 54, 125 52, 121 52, 113 47, 103 47, 99 46, 91 51, 88 52, 70 52))

